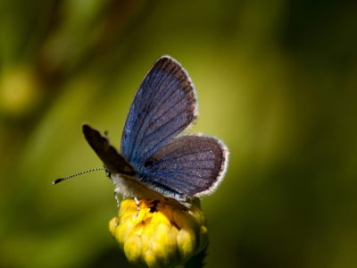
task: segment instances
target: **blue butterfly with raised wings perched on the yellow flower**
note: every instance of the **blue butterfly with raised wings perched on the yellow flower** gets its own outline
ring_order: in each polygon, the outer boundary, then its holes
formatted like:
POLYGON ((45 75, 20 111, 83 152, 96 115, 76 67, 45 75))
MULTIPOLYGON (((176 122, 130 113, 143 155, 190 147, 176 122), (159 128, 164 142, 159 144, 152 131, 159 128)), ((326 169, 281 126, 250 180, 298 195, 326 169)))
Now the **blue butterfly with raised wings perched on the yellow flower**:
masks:
POLYGON ((162 56, 137 89, 120 153, 98 130, 83 125, 88 144, 112 179, 116 198, 120 193, 134 197, 137 204, 137 199, 148 198, 189 207, 195 198, 218 188, 227 171, 228 148, 203 134, 179 135, 195 123, 197 105, 187 71, 170 56, 162 56))

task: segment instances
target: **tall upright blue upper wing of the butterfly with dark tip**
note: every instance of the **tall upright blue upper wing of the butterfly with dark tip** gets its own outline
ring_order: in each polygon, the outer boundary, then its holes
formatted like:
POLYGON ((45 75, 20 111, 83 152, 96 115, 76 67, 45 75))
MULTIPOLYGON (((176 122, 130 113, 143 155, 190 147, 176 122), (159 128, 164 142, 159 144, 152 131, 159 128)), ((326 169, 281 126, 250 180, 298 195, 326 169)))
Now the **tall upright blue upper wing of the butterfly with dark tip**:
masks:
POLYGON ((182 66, 162 56, 145 75, 130 106, 120 154, 139 170, 198 116, 195 88, 182 66))

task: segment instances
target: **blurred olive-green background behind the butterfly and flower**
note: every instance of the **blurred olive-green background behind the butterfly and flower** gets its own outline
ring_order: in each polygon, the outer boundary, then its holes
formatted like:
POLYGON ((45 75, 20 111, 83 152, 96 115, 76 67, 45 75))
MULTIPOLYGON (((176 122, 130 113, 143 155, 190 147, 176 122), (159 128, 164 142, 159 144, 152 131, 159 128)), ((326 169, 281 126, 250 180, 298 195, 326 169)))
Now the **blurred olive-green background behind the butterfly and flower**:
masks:
POLYGON ((81 125, 120 134, 169 54, 224 140, 207 267, 357 267, 357 2, 0 1, 0 267, 129 267, 81 125))

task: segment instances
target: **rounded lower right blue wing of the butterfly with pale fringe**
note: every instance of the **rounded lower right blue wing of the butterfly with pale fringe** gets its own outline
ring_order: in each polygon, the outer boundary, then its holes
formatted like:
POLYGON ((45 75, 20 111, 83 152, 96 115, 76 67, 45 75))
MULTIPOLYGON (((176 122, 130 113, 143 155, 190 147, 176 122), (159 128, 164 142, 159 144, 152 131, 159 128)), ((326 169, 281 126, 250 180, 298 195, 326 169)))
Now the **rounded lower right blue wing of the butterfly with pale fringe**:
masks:
POLYGON ((228 149, 219 139, 187 135, 172 139, 147 158, 140 180, 164 196, 185 200, 212 193, 227 165, 228 149))

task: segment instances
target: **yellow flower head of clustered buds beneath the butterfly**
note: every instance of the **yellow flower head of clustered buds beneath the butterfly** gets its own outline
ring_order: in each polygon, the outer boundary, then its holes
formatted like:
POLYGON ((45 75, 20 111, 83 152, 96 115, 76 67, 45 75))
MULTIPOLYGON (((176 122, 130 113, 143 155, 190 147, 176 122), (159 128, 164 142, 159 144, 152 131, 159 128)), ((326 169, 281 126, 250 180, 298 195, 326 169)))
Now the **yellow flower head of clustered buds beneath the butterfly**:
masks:
POLYGON ((109 222, 130 264, 141 267, 173 267, 185 264, 208 244, 206 218, 199 205, 190 209, 158 200, 123 200, 118 217, 109 222))

